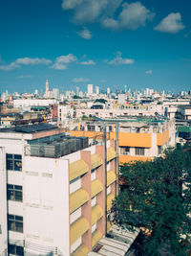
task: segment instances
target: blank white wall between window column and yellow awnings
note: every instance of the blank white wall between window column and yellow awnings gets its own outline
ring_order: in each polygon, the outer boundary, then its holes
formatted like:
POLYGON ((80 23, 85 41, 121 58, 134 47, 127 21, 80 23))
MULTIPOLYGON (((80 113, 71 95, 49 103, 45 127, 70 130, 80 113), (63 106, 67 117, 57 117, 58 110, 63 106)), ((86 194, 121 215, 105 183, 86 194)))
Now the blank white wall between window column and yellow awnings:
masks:
POLYGON ((48 246, 58 247, 69 256, 69 162, 26 156, 24 165, 28 171, 24 172, 23 188, 26 243, 47 250, 48 246), (32 172, 36 175, 30 175, 32 172))

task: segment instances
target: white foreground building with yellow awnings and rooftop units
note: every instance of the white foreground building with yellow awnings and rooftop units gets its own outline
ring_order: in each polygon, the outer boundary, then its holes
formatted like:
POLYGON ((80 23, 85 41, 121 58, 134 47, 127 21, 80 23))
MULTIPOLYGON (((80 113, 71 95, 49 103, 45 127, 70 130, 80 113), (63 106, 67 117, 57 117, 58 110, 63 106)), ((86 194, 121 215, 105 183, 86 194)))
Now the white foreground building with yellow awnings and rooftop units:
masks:
POLYGON ((49 124, 0 129, 0 255, 87 255, 116 195, 114 141, 104 159, 49 124))

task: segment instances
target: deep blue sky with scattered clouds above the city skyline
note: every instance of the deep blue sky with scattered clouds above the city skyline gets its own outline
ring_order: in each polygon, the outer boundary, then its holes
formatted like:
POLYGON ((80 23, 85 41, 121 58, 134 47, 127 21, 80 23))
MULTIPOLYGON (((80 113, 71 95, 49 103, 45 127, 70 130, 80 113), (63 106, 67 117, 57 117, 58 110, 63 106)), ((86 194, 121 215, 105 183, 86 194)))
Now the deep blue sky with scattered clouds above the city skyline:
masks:
POLYGON ((191 89, 190 0, 6 0, 0 92, 191 89))

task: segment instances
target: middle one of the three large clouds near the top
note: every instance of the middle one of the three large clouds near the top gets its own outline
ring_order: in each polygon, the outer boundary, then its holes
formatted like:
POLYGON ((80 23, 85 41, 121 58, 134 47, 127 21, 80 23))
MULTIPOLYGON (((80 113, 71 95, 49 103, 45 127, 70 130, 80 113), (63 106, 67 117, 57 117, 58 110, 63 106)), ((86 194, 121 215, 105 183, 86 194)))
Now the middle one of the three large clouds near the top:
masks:
POLYGON ((117 19, 107 17, 102 21, 102 25, 111 30, 137 30, 138 27, 145 26, 146 21, 154 16, 155 13, 150 12, 139 2, 124 3, 117 19))

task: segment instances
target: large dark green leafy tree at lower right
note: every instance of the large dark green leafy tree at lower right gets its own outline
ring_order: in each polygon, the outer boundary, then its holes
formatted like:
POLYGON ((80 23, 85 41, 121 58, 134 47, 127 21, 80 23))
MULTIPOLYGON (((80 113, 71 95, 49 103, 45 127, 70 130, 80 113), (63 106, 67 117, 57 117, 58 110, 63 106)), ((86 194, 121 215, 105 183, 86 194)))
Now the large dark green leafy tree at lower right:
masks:
POLYGON ((141 227, 148 239, 144 255, 187 255, 191 234, 191 151, 166 151, 153 161, 127 163, 120 169, 125 185, 116 198, 116 221, 141 227), (189 215, 190 214, 190 215, 189 215))

